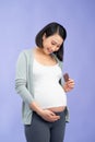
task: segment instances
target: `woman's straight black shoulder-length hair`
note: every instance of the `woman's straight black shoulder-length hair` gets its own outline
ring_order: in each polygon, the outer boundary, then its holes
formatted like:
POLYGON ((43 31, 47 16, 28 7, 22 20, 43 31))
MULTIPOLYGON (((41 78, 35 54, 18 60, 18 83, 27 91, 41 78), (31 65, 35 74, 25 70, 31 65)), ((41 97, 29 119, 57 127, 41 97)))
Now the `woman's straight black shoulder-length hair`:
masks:
MULTIPOLYGON (((46 25, 39 33, 36 35, 35 43, 38 47, 43 47, 43 36, 46 34, 46 37, 49 37, 54 34, 58 34, 60 37, 62 37, 63 42, 67 37, 67 31, 66 28, 60 25, 59 23, 52 22, 46 25)), ((63 60, 63 44, 61 45, 60 49, 58 51, 54 52, 60 61, 63 60)))

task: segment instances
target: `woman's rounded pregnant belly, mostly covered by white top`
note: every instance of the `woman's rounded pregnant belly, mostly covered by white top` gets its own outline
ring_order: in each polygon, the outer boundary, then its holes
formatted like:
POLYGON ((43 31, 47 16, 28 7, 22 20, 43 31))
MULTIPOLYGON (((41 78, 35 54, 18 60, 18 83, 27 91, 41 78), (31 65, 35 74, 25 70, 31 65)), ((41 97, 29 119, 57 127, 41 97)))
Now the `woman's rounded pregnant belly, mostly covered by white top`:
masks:
POLYGON ((67 96, 63 88, 60 85, 49 86, 48 88, 37 87, 34 91, 35 100, 44 109, 48 108, 52 111, 62 111, 67 106, 67 96))

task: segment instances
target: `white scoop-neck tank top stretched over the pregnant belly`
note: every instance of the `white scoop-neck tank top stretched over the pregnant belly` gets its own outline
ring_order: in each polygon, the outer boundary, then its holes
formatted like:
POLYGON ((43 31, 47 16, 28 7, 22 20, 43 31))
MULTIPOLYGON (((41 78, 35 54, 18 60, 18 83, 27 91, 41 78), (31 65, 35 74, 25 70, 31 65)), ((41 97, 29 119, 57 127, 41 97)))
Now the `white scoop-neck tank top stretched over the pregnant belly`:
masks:
POLYGON ((44 66, 34 59, 34 97, 41 108, 67 106, 67 96, 59 80, 62 71, 59 64, 44 66))

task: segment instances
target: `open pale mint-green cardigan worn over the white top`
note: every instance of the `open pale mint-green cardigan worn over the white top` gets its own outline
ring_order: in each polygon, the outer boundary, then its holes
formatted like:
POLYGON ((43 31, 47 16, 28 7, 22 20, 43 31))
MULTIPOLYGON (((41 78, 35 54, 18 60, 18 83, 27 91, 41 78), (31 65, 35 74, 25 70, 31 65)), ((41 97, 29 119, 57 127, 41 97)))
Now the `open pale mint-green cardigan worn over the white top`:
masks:
MULTIPOLYGON (((56 57, 56 56, 55 56, 56 57)), ((56 57, 58 60, 58 58, 56 57)), ((15 91, 22 97, 22 121, 24 125, 32 123, 33 110, 29 104, 34 100, 34 86, 33 86, 33 49, 23 50, 17 58, 16 72, 15 72, 15 91)), ((59 61, 62 69, 62 62, 59 61)), ((63 84, 63 79, 61 79, 63 84)), ((69 110, 66 110, 66 121, 69 121, 69 110)))

